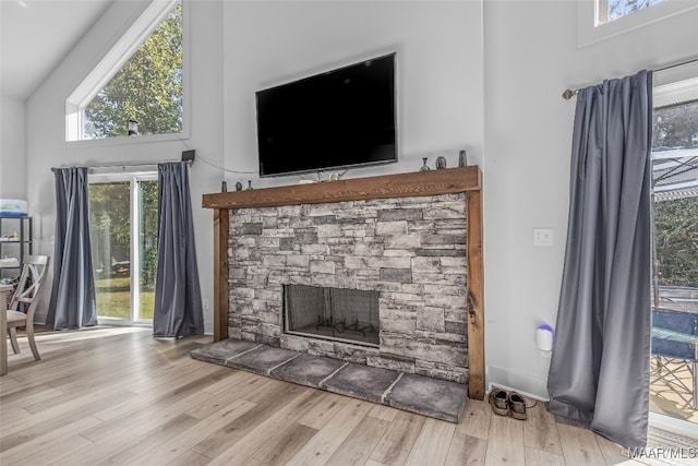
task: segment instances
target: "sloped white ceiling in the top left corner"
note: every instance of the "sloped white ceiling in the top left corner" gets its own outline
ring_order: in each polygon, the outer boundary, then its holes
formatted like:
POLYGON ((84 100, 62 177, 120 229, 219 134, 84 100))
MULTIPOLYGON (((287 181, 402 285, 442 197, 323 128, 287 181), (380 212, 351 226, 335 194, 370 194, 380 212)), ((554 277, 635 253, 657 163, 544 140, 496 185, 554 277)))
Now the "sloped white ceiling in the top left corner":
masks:
POLYGON ((26 100, 115 0, 0 0, 0 87, 26 100))

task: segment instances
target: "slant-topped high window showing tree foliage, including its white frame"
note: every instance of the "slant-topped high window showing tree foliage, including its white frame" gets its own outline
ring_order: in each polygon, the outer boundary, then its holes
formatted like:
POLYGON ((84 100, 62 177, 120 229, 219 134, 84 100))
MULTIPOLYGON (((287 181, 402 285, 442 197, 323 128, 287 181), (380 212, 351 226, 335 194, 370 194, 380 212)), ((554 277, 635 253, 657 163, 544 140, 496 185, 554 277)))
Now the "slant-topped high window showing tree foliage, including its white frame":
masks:
POLYGON ((154 0, 67 101, 67 140, 182 133, 182 2, 154 0))

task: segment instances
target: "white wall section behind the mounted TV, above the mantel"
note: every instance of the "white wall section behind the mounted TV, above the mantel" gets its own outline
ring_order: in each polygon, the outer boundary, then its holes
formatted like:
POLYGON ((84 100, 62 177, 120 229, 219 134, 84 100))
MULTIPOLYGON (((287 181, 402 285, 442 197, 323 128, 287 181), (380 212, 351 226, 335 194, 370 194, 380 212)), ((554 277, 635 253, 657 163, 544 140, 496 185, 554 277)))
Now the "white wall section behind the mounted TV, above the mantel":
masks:
MULTIPOLYGON (((398 61, 399 162, 350 170, 346 178, 413 171, 437 151, 450 150, 450 166, 462 147, 471 160, 481 159, 479 1, 225 2, 224 14, 227 168, 257 170, 255 91, 392 50, 398 61)), ((254 186, 299 179, 251 178, 254 186)))

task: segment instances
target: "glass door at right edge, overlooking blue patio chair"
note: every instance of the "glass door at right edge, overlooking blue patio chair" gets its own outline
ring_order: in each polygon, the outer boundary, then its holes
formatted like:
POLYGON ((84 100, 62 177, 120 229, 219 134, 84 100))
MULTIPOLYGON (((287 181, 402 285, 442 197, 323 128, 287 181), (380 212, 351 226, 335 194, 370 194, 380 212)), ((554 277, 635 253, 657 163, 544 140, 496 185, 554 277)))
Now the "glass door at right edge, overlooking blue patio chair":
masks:
MULTIPOLYGON (((698 93, 698 83, 696 83, 698 93)), ((690 96, 690 95, 689 95, 690 96)), ((698 423, 698 98, 658 96, 652 150, 651 419, 698 423), (659 97, 659 98, 658 98, 659 97)), ((682 426, 683 425, 683 426, 682 426)))

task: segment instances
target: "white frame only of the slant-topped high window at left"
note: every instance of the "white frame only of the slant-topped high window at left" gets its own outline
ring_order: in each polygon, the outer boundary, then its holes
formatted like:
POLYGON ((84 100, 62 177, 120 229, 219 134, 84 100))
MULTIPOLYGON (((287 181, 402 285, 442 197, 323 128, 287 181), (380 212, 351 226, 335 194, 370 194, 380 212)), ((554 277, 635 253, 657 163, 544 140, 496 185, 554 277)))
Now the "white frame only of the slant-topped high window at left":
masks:
POLYGON ((191 136, 190 80, 190 19, 184 0, 153 0, 128 31, 105 53, 104 58, 65 99, 65 143, 81 145, 132 144, 157 141, 188 140, 191 136), (121 70, 133 53, 160 25, 177 3, 182 3, 182 131, 178 133, 144 134, 84 139, 84 108, 121 70))

